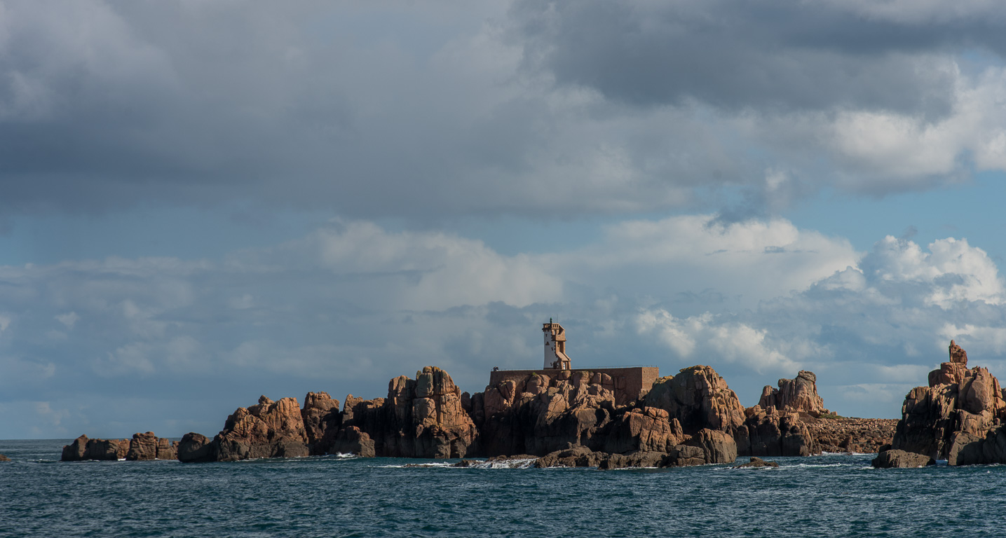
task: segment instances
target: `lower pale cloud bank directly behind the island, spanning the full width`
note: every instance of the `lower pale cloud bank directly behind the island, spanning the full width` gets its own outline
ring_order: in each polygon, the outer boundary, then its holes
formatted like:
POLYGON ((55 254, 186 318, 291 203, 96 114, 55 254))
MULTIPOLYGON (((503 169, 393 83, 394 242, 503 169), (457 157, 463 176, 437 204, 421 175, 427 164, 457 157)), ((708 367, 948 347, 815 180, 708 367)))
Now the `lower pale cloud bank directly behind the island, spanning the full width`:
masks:
POLYGON ((745 404, 810 369, 840 413, 895 416, 890 394, 924 383, 951 338, 1003 374, 1003 293, 995 262, 963 238, 886 236, 856 252, 783 219, 700 214, 504 255, 443 231, 337 220, 217 261, 0 267, 0 391, 14 405, 63 402, 52 409, 87 417, 75 423, 181 434, 261 393, 379 396, 430 364, 481 390, 493 366, 538 364, 537 324, 553 317, 583 367, 709 364, 745 404), (202 403, 156 419, 137 403, 114 420, 93 405, 130 398, 202 403))

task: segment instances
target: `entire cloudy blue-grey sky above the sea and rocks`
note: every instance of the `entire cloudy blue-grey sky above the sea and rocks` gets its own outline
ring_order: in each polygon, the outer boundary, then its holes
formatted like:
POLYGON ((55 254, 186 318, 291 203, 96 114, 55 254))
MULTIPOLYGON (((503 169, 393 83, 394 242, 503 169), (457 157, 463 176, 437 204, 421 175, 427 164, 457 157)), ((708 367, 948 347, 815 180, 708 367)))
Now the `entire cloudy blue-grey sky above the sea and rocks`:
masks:
POLYGON ((0 0, 0 438, 542 363, 1006 375, 993 0, 0 0))

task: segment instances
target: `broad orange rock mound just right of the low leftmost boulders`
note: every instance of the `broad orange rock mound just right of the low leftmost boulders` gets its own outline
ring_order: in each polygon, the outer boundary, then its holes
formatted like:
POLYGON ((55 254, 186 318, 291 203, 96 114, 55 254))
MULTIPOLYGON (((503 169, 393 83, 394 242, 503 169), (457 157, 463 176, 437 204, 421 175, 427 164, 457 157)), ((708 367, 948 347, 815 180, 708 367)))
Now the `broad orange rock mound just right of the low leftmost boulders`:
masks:
POLYGON ((297 398, 273 401, 261 396, 258 404, 238 407, 213 438, 213 452, 219 462, 308 456, 297 398))

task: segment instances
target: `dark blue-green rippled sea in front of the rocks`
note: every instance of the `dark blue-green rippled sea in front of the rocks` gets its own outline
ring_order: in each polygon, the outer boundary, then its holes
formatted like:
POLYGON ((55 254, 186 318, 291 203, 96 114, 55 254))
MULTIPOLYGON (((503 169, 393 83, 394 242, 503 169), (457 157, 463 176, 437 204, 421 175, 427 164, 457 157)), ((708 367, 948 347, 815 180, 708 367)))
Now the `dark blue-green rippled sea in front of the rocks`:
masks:
MULTIPOLYGON (((336 456, 60 463, 0 440, 0 537, 1006 536, 1006 467, 873 455, 729 466, 459 469, 336 456), (428 467, 404 467, 406 464, 428 467)), ((746 459, 738 459, 738 462, 746 459)))

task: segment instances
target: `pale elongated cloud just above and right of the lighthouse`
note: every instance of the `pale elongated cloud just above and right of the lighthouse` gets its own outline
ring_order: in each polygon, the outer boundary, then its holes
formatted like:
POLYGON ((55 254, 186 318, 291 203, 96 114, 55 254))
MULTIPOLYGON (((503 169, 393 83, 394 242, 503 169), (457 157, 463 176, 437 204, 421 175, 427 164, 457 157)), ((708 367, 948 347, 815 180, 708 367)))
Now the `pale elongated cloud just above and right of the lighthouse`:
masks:
POLYGON ((714 215, 681 215, 614 224, 597 244, 556 256, 554 263, 569 280, 618 282, 623 293, 666 298, 715 290, 730 308, 753 308, 858 257, 846 239, 781 218, 721 223, 714 215))

